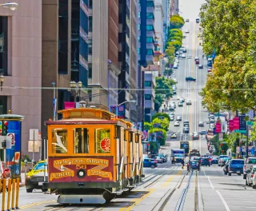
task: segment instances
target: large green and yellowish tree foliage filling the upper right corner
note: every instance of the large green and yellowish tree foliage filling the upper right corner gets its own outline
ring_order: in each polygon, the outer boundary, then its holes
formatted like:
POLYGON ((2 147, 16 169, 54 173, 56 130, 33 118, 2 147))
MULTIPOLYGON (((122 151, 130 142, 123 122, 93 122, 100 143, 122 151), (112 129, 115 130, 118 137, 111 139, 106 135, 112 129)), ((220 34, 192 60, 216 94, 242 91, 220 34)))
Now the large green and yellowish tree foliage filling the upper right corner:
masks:
POLYGON ((256 1, 207 0, 201 8, 203 50, 218 56, 202 90, 211 112, 256 105, 256 1))

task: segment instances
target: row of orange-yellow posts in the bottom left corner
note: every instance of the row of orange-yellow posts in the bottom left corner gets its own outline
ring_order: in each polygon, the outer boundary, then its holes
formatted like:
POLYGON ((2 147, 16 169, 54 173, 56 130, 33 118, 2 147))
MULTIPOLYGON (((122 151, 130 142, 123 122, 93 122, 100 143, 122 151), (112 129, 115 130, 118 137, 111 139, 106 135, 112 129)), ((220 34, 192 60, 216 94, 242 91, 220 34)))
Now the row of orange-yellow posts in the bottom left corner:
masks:
POLYGON ((18 209, 19 177, 10 178, 8 180, 8 183, 6 181, 7 180, 5 178, 0 180, 2 184, 2 209, 1 210, 2 211, 6 210, 5 209, 6 207, 7 207, 7 210, 18 209), (8 187, 7 191, 6 191, 6 187, 8 187), (6 201, 6 193, 7 193, 7 201, 6 201), (11 198, 11 201, 10 201, 10 198, 11 198), (14 202, 15 202, 15 206, 14 206, 14 202))

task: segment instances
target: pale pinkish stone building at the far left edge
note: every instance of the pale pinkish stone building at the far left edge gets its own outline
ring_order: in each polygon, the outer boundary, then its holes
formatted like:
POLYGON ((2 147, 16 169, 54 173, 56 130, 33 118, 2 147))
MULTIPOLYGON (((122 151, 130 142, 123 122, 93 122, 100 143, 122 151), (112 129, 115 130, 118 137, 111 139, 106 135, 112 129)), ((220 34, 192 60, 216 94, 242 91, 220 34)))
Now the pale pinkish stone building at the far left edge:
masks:
POLYGON ((42 86, 42 1, 16 2, 15 11, 0 7, 0 75, 4 76, 0 114, 10 109, 25 116, 22 153, 32 157, 28 153, 30 129, 41 131, 42 93, 34 87, 42 86))

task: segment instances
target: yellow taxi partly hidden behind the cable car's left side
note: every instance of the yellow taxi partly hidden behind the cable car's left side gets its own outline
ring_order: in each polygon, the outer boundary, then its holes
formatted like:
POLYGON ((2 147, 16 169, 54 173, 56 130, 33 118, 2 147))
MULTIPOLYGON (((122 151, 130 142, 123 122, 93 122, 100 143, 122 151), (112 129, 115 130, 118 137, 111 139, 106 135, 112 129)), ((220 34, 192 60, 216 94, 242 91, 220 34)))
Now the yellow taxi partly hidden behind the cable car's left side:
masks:
MULTIPOLYGON (((32 193, 33 189, 42 189, 42 182, 44 177, 46 161, 39 161, 29 172, 26 173, 26 192, 32 193)), ((48 173, 46 171, 46 181, 48 180, 48 173)), ((42 189, 42 191, 47 191, 47 189, 42 189)))

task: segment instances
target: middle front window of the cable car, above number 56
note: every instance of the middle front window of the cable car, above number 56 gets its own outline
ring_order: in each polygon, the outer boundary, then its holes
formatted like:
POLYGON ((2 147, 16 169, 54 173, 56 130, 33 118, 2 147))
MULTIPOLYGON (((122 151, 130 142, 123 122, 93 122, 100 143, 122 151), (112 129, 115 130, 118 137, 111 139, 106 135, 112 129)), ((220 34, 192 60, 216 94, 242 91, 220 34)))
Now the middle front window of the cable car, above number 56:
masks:
POLYGON ((89 129, 74 128, 74 153, 89 153, 89 129))

